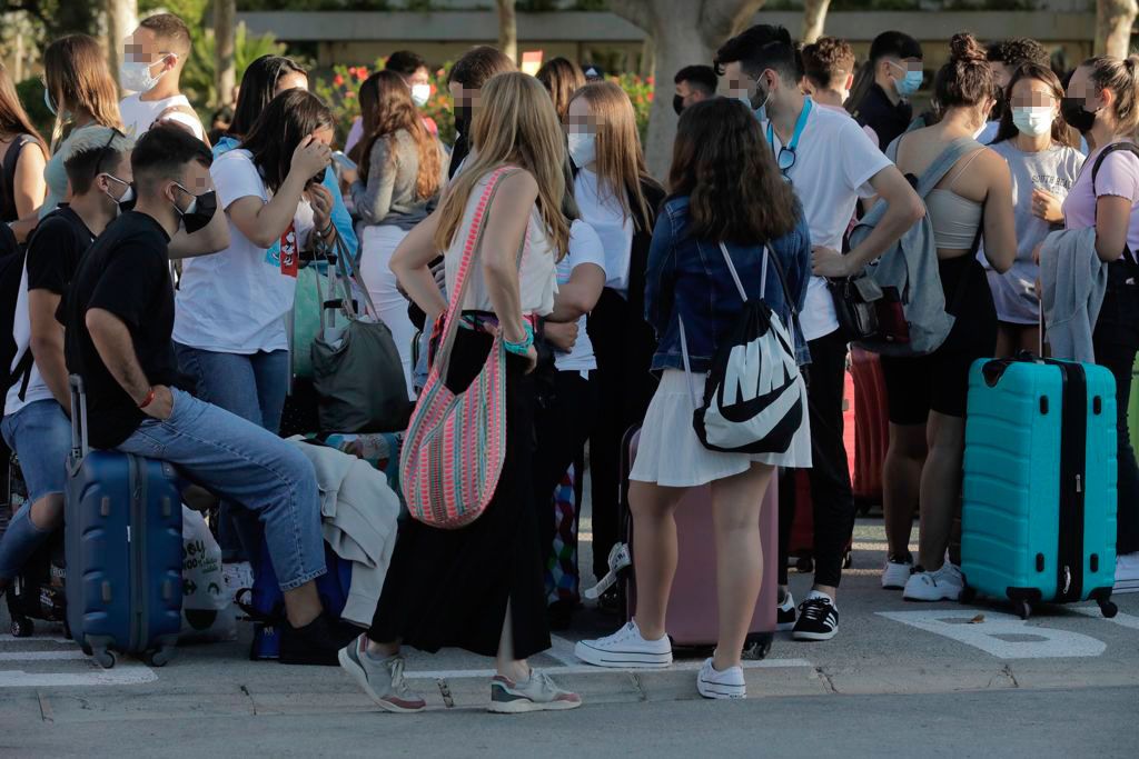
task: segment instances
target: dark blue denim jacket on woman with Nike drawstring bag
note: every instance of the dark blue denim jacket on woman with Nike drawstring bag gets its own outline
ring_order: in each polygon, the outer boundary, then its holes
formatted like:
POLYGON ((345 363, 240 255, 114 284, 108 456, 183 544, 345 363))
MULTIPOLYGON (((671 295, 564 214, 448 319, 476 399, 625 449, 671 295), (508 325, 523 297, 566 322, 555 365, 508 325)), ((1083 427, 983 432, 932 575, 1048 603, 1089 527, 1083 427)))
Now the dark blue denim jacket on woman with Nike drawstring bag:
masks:
MULTIPOLYGON (((811 274, 811 236, 800 213, 795 229, 770 244, 782 265, 796 311, 802 311, 806 300, 811 274)), ((790 327, 790 308, 772 262, 768 262, 767 291, 760 291, 762 251, 759 245, 728 244, 728 253, 748 297, 763 298, 790 327)), ((688 197, 670 198, 656 220, 645 284, 645 319, 656 329, 661 341, 653 356, 653 370, 683 369, 679 320, 683 316, 693 371, 710 371, 716 347, 731 331, 741 306, 720 245, 689 236, 688 197)), ((800 365, 806 364, 810 354, 797 323, 794 335, 795 358, 800 365)))

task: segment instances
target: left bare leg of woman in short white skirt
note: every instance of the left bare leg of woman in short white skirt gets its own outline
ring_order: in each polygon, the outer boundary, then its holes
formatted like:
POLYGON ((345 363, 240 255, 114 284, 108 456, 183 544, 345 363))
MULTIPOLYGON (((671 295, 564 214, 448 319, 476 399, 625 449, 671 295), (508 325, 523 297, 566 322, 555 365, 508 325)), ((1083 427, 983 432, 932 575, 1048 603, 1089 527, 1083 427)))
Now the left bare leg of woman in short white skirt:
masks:
POLYGON ((633 515, 633 568, 637 576, 637 626, 646 641, 664 637, 672 577, 677 574, 677 505, 686 488, 652 482, 629 484, 633 515))

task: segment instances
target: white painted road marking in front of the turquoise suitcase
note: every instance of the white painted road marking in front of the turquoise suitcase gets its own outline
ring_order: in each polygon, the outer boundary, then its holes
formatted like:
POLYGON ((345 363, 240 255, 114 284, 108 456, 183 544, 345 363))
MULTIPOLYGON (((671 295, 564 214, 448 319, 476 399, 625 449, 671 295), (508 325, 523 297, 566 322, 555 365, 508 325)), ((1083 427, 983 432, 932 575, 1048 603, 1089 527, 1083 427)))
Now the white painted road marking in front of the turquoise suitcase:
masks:
POLYGON ((1067 659, 1098 657, 1107 644, 1103 641, 1048 627, 1033 625, 1013 614, 984 612, 984 621, 968 624, 976 610, 879 611, 879 617, 934 633, 959 643, 981 649, 998 659, 1067 659), (1013 640, 1009 640, 1013 638, 1013 640))

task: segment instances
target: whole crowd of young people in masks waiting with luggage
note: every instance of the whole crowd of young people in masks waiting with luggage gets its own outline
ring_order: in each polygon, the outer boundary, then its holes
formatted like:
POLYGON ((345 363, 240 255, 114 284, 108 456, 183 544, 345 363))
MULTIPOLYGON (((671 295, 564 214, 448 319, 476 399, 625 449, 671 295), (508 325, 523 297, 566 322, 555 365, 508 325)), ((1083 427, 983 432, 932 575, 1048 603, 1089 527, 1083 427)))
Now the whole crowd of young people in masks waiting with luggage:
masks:
MULTIPOLYGON (((628 481, 637 613, 576 653, 603 667, 670 665, 674 514, 690 488, 710 485, 719 638, 697 687, 741 698, 763 583, 778 581, 778 624, 795 640, 838 630, 854 526, 843 442, 851 336, 829 284, 891 255, 925 221, 937 277, 912 297, 943 300, 954 320, 928 355, 882 358, 882 586, 913 601, 960 597, 969 368, 1040 350, 1040 255, 1060 229, 1093 229, 1109 272, 1091 345, 1076 348, 1116 380, 1116 579, 1139 579, 1126 424, 1139 149, 1112 147, 1139 127, 1139 60, 1099 56, 1062 80, 1032 40, 985 48, 958 34, 929 108, 916 113, 928 76, 912 38, 880 34, 858 65, 842 40, 801 48, 782 27, 753 26, 677 73, 672 164, 654 178, 629 97, 563 58, 528 76, 493 48, 464 55, 448 80, 458 137, 446 146, 419 112, 431 85, 413 52, 393 53, 360 84, 347 135, 305 69, 280 56, 248 66, 228 125, 211 134, 179 89, 191 55, 180 19, 145 19, 125 41, 118 84, 134 94, 120 102, 93 39, 52 42, 50 140, 0 72, 0 211, 26 248, 18 300, 2 304, 15 308, 17 350, 0 430, 28 490, 0 539, 0 587, 62 523, 76 413, 68 376, 79 374, 92 446, 169 461, 219 498, 227 559, 269 552, 287 614, 281 660, 339 662, 388 711, 425 708, 402 646, 495 658, 492 711, 581 704, 527 659, 576 605, 551 601, 543 572, 558 529, 551 494, 567 471, 581 473, 587 452, 597 577, 623 534, 628 481), (916 179, 935 163, 941 179, 919 196, 916 179), (872 229, 852 238, 871 208, 872 229), (279 436, 298 271, 336 250, 357 257, 355 286, 391 331, 408 397, 433 373, 462 395, 500 366, 503 409, 482 411, 506 420, 481 515, 461 529, 403 522, 372 625, 346 647, 314 585, 326 562, 313 468, 279 436), (805 407, 778 451, 713 449, 694 411, 752 299, 786 325, 792 369, 809 379, 805 407), (770 484, 803 469, 816 570, 796 607, 786 577, 795 486, 779 489, 778 578, 763 576, 759 513, 770 484)), ((483 452, 459 453, 444 465, 478 468, 483 452)), ((615 610, 618 594, 599 603, 615 610)))

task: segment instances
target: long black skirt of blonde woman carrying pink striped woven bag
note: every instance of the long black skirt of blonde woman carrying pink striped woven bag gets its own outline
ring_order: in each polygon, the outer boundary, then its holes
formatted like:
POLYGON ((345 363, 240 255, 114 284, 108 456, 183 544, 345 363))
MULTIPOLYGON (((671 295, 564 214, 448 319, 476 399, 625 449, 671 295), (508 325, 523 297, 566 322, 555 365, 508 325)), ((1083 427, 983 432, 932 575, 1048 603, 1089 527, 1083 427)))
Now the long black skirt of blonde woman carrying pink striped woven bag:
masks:
MULTIPOLYGON (((446 378, 452 391, 470 385, 491 343, 484 332, 459 330, 446 378)), ((515 658, 550 647, 531 481, 534 387, 525 365, 524 358, 507 354, 506 461, 494 497, 461 529, 435 529, 411 519, 400 527, 370 640, 402 641, 432 653, 453 646, 493 657, 509 601, 515 658)))

